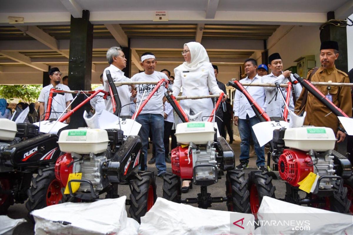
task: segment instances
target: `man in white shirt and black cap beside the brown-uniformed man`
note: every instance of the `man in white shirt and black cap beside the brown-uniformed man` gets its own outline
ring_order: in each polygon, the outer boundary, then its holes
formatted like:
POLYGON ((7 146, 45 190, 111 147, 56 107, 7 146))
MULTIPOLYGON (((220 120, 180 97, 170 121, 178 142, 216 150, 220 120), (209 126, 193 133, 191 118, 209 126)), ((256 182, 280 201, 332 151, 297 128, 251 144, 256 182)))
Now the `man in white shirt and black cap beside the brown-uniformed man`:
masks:
MULTIPOLYGON (((278 82, 279 84, 285 84, 288 81, 296 81, 294 78, 293 74, 291 74, 291 71, 286 70, 285 72, 282 72, 283 70, 283 64, 282 64, 282 58, 279 53, 274 53, 268 57, 268 67, 271 69, 271 73, 269 75, 264 75, 262 77, 262 82, 263 83, 276 83, 278 82)), ((295 97, 295 100, 298 100, 300 93, 301 93, 301 85, 298 83, 296 85, 293 85, 294 88, 294 95, 292 91, 291 95, 291 100, 289 101, 289 109, 294 110, 294 103, 293 103, 293 98, 295 97)), ((281 94, 277 92, 276 87, 264 87, 266 90, 266 98, 267 98, 267 115, 269 117, 283 117, 283 111, 285 108, 285 103, 283 102, 283 99, 281 98, 281 94)), ((287 95, 287 88, 281 87, 281 90, 283 94, 287 95)))

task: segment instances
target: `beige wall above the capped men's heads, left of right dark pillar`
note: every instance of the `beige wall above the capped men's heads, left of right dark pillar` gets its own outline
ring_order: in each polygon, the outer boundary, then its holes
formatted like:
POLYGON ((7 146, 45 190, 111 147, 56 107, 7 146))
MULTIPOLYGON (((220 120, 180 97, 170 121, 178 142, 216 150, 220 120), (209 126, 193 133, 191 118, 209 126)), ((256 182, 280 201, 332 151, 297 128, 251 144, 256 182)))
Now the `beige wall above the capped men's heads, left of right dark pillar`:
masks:
MULTIPOLYGON (((283 68, 296 66, 301 56, 315 55, 316 66, 320 66, 319 26, 281 25, 267 41, 268 55, 280 53, 283 68)), ((260 60, 261 62, 261 60, 260 60)))

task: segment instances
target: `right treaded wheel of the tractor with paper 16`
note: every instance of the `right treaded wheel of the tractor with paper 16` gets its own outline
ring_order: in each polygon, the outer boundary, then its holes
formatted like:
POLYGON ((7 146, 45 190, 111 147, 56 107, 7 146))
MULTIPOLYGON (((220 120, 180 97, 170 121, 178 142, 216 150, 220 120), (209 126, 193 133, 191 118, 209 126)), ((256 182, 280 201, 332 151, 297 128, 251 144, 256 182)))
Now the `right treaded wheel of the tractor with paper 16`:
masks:
POLYGON ((154 173, 145 171, 139 172, 136 178, 130 181, 129 213, 137 222, 141 222, 141 217, 149 211, 157 200, 156 182, 154 173))

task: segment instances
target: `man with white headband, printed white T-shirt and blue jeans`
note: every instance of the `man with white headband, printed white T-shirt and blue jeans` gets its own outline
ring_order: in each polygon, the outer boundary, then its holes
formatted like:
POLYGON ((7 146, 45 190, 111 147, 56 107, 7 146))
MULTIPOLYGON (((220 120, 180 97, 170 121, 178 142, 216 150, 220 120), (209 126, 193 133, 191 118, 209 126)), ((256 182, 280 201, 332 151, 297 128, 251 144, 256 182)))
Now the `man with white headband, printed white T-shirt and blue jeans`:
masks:
MULTIPOLYGON (((145 52, 141 56, 141 66, 145 69, 144 72, 132 76, 132 81, 160 81, 161 79, 168 80, 166 74, 155 71, 157 64, 156 57, 151 52, 145 52)), ((138 107, 141 100, 145 100, 151 91, 156 87, 153 84, 136 85, 137 88, 137 102, 138 107)), ((141 129, 139 136, 142 140, 142 151, 145 156, 145 167, 147 167, 147 145, 150 127, 152 130, 153 143, 156 149, 156 167, 158 169, 158 176, 164 177, 166 173, 166 161, 164 159, 164 112, 163 101, 164 92, 166 89, 161 86, 156 93, 151 97, 148 103, 143 107, 136 121, 140 123, 141 129)))

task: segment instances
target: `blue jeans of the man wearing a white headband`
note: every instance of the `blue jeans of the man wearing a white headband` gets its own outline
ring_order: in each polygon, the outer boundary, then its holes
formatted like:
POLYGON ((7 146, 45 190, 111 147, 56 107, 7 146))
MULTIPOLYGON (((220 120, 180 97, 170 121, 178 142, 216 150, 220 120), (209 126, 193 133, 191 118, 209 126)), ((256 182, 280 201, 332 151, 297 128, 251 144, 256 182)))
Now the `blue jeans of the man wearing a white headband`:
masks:
POLYGON ((140 123, 141 129, 138 135, 142 141, 142 151, 145 155, 145 169, 147 169, 147 145, 150 132, 152 130, 153 144, 156 148, 156 167, 158 175, 166 172, 166 160, 164 159, 164 117, 160 114, 140 114, 136 121, 140 123))

